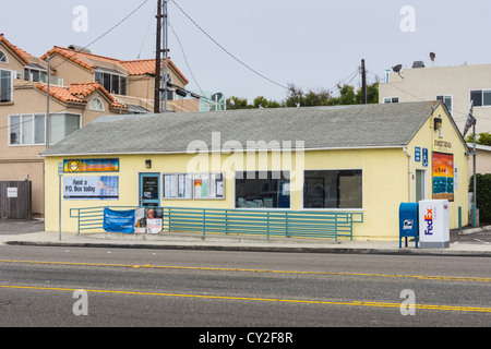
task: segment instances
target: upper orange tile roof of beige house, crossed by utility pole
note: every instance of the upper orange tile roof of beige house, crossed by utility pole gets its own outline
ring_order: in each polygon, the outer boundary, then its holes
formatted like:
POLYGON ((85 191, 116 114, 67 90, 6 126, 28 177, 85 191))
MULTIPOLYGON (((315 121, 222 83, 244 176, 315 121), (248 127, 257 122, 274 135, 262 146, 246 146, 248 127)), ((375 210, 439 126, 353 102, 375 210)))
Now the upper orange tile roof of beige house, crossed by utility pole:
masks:
MULTIPOLYGON (((89 52, 84 51, 76 51, 73 49, 64 48, 55 46, 50 51, 45 53, 40 59, 45 60, 48 56, 52 55, 60 55, 67 59, 70 59, 71 61, 77 63, 79 65, 87 69, 93 70, 97 67, 94 65, 94 63, 89 63, 91 61, 103 61, 108 63, 115 63, 118 64, 125 70, 128 70, 128 75, 144 75, 144 74, 155 74, 155 59, 141 59, 141 60, 119 60, 116 58, 105 57, 105 56, 98 56, 89 52)), ((176 73, 184 81, 185 84, 189 84, 189 80, 185 79, 185 76, 182 74, 182 72, 176 67, 176 64, 168 59, 169 65, 172 67, 172 69, 176 71, 176 73)), ((164 67, 164 64, 161 64, 164 67)))

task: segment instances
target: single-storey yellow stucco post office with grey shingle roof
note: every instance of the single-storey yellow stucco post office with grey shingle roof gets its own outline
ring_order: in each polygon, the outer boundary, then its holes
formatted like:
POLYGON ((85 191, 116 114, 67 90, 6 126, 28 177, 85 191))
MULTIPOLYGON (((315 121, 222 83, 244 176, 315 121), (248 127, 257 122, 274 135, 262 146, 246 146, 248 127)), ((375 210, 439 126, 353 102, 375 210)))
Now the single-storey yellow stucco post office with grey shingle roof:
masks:
POLYGON ((396 240, 405 202, 446 198, 458 226, 467 153, 438 101, 101 117, 41 154, 46 229, 61 195, 71 232, 72 208, 172 206, 361 213, 354 239, 396 240))

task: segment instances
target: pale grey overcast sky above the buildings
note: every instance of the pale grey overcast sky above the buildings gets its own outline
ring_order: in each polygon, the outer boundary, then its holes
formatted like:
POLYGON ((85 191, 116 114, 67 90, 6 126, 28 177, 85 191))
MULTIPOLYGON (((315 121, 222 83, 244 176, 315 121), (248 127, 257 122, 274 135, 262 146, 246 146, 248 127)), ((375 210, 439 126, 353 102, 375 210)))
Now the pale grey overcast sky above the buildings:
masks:
MULTIPOLYGON (((37 57, 52 46, 97 39, 88 47, 93 53, 154 58, 156 4, 3 0, 0 33, 37 57)), ((361 59, 369 83, 398 63, 410 68, 422 60, 428 67, 430 52, 440 67, 491 62, 489 0, 169 0, 168 12, 169 55, 190 81, 188 89, 200 86, 249 103, 256 96, 279 101, 291 83, 304 91, 339 81, 359 86, 361 59)))

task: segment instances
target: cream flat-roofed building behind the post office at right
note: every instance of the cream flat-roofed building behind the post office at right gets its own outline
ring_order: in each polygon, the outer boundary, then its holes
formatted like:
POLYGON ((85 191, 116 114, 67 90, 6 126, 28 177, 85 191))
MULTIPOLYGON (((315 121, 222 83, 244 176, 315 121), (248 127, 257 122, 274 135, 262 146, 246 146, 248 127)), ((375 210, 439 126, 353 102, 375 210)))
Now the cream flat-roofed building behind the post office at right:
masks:
POLYGON ((491 64, 424 67, 415 62, 411 69, 387 72, 385 80, 379 87, 381 104, 442 100, 463 133, 474 100, 476 132, 491 132, 491 64))

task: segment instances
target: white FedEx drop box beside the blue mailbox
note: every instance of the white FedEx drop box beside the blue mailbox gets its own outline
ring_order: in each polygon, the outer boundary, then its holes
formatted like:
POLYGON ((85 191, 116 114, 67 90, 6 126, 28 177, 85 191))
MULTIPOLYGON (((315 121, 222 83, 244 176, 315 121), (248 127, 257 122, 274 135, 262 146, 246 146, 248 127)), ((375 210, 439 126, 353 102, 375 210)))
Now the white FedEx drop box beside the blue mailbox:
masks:
POLYGON ((419 202, 419 242, 421 249, 450 246, 450 205, 447 200, 419 202))

